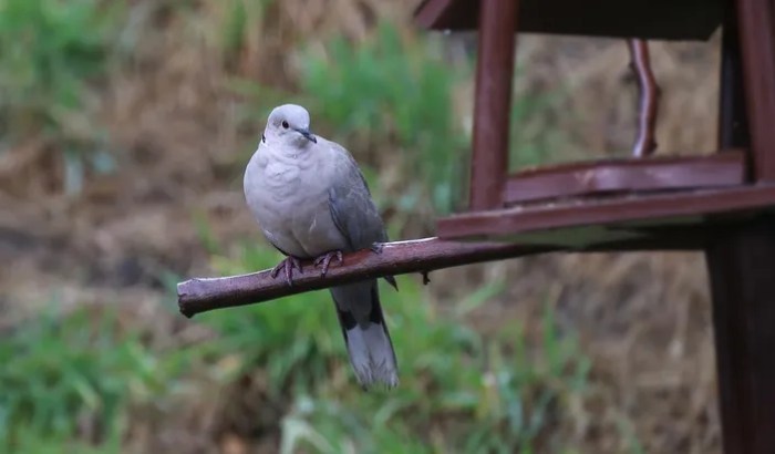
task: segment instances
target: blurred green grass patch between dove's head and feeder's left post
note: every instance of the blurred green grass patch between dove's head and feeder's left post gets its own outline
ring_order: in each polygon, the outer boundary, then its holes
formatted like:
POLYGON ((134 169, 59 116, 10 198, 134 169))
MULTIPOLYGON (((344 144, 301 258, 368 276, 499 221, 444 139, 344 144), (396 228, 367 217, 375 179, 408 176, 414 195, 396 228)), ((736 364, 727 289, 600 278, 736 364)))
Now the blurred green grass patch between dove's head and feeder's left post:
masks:
POLYGON ((360 135, 382 149, 391 144, 389 153, 404 159, 405 196, 416 199, 426 190, 438 210, 448 211, 466 148, 452 109, 456 76, 448 63, 433 58, 428 43, 402 40, 386 23, 366 42, 339 38, 326 49, 326 56, 303 59, 302 87, 316 115, 345 143, 360 135))

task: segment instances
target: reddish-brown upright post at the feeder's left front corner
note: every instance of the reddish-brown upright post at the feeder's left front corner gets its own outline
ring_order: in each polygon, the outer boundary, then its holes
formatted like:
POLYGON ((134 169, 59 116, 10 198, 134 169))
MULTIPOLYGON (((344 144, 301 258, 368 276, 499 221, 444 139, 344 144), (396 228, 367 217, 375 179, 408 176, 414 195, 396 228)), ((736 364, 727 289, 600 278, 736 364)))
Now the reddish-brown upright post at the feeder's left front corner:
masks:
POLYGON ((517 0, 483 0, 469 209, 502 206, 508 168, 517 0))

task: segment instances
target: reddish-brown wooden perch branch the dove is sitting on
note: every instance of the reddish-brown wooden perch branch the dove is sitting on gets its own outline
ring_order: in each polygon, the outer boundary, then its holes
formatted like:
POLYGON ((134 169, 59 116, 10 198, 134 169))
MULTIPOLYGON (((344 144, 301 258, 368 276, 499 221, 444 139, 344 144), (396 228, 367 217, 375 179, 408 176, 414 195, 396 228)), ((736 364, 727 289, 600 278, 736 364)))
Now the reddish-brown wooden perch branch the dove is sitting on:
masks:
POLYGON ((272 278, 270 270, 249 275, 190 279, 177 285, 177 302, 180 313, 190 318, 214 309, 264 302, 310 290, 319 290, 341 283, 396 276, 409 272, 423 274, 459 265, 544 252, 557 248, 509 243, 456 243, 438 238, 386 243, 382 252, 360 250, 348 254, 341 265, 332 265, 326 277, 311 262, 303 262, 303 272, 293 274, 293 285, 288 286, 282 275, 272 278))

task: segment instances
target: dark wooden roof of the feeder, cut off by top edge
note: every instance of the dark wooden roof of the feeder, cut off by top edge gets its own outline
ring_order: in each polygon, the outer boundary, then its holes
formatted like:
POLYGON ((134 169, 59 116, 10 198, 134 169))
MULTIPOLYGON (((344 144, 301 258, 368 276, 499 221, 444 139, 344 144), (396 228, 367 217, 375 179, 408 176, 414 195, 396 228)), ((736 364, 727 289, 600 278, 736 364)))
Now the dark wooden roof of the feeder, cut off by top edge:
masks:
MULTIPOLYGON (((425 0, 417 22, 432 30, 475 30, 482 0, 425 0)), ((520 32, 707 40, 721 24, 721 0, 523 0, 520 32)))

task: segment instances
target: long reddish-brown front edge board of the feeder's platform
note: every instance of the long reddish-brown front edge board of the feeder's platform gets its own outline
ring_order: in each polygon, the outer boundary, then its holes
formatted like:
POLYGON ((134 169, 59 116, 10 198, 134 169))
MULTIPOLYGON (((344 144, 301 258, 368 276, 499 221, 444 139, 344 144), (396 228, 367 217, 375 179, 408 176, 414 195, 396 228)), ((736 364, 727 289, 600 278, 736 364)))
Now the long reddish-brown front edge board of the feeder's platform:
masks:
POLYGON ((775 185, 665 195, 639 194, 453 215, 437 221, 437 235, 443 239, 490 239, 562 227, 636 220, 659 224, 662 218, 706 216, 766 207, 775 207, 775 185))

